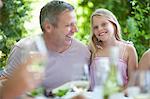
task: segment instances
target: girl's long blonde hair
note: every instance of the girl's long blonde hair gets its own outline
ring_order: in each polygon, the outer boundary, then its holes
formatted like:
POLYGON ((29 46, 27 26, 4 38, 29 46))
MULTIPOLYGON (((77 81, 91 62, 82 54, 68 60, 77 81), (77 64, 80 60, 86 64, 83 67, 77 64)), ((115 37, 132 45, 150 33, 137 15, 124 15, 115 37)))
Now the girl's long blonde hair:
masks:
MULTIPOLYGON (((116 16, 111 11, 104 9, 104 8, 100 8, 100 9, 95 10, 93 12, 93 14, 91 15, 91 28, 93 25, 93 17, 94 16, 103 16, 103 17, 107 18, 110 22, 112 22, 112 24, 115 27, 115 38, 116 38, 116 40, 118 40, 118 41, 122 40, 120 24, 119 24, 116 16)), ((90 49, 92 52, 92 59, 95 57, 95 53, 96 53, 98 48, 102 48, 101 47, 101 41, 99 41, 96 38, 96 36, 93 33, 93 28, 92 28, 91 29, 91 41, 90 41, 90 49), (99 47, 97 47, 97 45, 99 47)))

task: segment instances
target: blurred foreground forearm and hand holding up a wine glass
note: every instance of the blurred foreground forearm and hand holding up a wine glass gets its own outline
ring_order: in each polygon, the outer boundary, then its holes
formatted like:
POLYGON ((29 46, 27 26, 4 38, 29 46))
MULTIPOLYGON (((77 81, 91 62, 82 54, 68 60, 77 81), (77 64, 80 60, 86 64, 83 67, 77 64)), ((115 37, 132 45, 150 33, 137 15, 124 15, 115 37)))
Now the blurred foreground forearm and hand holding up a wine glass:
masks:
POLYGON ((0 86, 0 99, 15 99, 37 85, 33 73, 29 72, 27 66, 31 64, 31 59, 18 66, 11 76, 0 86))

